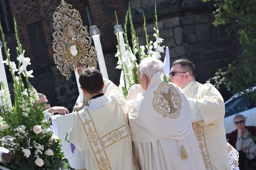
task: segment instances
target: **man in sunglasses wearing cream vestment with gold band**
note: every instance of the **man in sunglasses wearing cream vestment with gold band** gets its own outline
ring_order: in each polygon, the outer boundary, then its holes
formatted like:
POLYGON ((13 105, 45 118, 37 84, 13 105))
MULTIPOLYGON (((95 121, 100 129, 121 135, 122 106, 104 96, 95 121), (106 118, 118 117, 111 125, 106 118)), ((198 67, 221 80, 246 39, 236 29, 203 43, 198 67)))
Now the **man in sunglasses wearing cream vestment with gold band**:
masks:
POLYGON ((224 128, 225 104, 210 83, 195 81, 194 64, 189 60, 172 63, 169 79, 188 97, 191 120, 206 169, 231 169, 224 128))

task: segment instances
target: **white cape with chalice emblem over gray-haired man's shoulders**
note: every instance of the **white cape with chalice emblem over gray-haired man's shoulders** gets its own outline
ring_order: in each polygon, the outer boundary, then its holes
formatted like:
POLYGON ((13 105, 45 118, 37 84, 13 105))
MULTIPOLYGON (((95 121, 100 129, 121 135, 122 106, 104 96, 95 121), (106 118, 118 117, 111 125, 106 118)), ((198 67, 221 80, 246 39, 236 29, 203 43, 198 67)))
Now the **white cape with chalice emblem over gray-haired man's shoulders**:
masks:
POLYGON ((129 112, 132 141, 144 143, 168 138, 184 131, 187 136, 191 125, 188 100, 178 86, 163 81, 157 72, 147 91, 139 93, 129 112))

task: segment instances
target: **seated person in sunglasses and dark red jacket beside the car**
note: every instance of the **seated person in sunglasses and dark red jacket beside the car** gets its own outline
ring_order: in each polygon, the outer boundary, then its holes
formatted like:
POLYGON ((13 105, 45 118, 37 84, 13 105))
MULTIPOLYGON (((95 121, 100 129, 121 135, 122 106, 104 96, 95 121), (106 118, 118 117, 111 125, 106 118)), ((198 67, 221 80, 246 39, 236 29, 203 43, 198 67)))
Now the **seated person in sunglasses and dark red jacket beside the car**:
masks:
POLYGON ((256 128, 245 126, 245 117, 237 114, 233 118, 237 130, 229 135, 229 143, 239 152, 239 168, 244 169, 244 162, 247 165, 256 162, 256 128))

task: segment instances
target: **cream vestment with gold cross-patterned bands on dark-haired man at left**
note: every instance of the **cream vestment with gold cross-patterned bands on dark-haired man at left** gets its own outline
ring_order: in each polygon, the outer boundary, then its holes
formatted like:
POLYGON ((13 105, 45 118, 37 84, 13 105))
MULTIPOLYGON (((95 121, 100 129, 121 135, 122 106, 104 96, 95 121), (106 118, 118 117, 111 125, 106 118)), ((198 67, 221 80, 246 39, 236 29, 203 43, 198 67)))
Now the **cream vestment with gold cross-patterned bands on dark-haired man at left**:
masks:
POLYGON ((103 90, 108 97, 89 100, 89 106, 75 114, 68 140, 86 151, 87 170, 136 170, 126 100, 111 83, 103 90))

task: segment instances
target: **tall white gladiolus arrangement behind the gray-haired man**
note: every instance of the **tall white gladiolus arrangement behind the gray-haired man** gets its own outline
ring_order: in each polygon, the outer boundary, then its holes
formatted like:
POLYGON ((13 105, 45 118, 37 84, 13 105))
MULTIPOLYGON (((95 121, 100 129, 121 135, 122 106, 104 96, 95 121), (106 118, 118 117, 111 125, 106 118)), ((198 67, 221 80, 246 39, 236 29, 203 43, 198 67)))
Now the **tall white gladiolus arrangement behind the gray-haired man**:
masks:
MULTIPOLYGON (((116 13, 115 13, 116 15, 116 13)), ((161 58, 161 52, 164 52, 164 47, 165 46, 160 46, 162 43, 163 39, 159 37, 159 30, 158 30, 158 24, 157 24, 157 13, 156 13, 156 4, 155 4, 155 25, 156 27, 154 28, 155 34, 154 36, 156 37, 156 41, 153 43, 153 41, 148 40, 148 35, 147 35, 147 29, 146 29, 146 19, 145 15, 143 13, 144 17, 144 30, 145 30, 145 38, 146 38, 146 46, 139 46, 138 42, 138 37, 136 37, 136 33, 134 31, 133 23, 132 23, 132 15, 131 15, 131 8, 129 4, 128 11, 126 13, 125 17, 125 23, 124 23, 124 40, 125 40, 125 48, 126 52, 122 55, 121 53, 121 45, 120 45, 120 37, 119 34, 117 34, 117 53, 116 57, 118 57, 118 66, 116 68, 122 69, 123 72, 123 78, 124 78, 124 87, 122 87, 123 94, 127 96, 129 88, 133 84, 140 84, 139 78, 138 78, 138 64, 137 64, 137 58, 136 55, 139 57, 139 60, 141 61, 143 58, 146 57, 154 57, 154 58, 161 58), (127 36, 127 22, 128 18, 130 21, 130 28, 131 28, 131 42, 132 46, 129 46, 128 42, 128 36, 127 36), (147 49, 147 52, 145 52, 145 49, 147 49)), ((118 20, 117 20, 117 15, 116 15, 116 22, 118 26, 118 20)), ((166 80, 166 78, 165 78, 166 80)))

